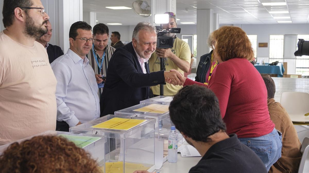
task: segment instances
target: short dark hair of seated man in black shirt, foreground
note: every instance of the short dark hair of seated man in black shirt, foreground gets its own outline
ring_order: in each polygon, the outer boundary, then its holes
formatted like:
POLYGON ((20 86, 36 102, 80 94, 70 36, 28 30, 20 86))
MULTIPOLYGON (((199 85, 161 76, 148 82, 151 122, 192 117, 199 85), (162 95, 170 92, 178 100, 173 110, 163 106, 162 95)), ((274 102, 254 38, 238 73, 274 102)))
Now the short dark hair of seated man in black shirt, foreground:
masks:
POLYGON ((171 101, 169 111, 175 127, 195 141, 210 142, 210 135, 226 131, 218 98, 206 87, 183 87, 171 101))

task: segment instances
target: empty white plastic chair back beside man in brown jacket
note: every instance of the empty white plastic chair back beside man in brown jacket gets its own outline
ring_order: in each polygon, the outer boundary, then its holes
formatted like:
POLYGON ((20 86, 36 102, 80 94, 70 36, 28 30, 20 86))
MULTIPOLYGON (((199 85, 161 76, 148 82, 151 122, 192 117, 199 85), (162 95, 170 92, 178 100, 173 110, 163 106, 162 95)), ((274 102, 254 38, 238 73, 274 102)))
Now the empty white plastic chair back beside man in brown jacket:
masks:
POLYGON ((280 104, 286 109, 293 123, 309 123, 309 94, 283 92, 280 104))

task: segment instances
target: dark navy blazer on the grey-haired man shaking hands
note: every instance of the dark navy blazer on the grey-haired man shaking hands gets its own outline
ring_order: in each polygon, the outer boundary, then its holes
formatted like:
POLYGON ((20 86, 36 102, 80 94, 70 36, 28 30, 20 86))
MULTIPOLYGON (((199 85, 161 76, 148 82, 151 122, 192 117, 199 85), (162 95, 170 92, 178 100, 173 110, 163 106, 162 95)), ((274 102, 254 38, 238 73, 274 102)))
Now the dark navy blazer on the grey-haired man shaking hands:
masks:
POLYGON ((144 74, 132 42, 115 50, 108 63, 107 78, 100 98, 101 117, 131 107, 149 98, 149 86, 164 83, 164 71, 144 74))

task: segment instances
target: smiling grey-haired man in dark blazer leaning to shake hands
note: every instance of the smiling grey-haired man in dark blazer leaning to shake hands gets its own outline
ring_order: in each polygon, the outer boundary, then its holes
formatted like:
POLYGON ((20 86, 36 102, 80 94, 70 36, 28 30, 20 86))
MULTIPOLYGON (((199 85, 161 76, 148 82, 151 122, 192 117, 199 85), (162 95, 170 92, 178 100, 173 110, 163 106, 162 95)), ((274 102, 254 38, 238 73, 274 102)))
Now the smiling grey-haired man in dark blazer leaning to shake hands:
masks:
POLYGON ((115 50, 100 98, 101 117, 148 99, 149 86, 163 84, 165 78, 180 85, 176 71, 150 73, 148 59, 156 46, 155 26, 140 22, 133 30, 132 42, 115 50))

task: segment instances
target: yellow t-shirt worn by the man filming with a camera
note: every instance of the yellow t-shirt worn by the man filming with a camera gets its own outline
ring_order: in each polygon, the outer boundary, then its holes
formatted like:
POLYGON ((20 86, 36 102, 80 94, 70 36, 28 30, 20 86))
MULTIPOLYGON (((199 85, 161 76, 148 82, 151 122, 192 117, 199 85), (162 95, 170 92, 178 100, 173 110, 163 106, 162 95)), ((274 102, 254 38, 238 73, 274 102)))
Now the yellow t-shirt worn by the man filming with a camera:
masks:
MULTIPOLYGON (((174 41, 174 45, 171 48, 171 51, 180 59, 191 62, 191 51, 188 43, 184 42, 183 40, 176 37, 174 41)), ((153 71, 160 71, 160 58, 158 58, 158 55, 156 52, 154 52, 150 59, 149 59, 149 68, 150 72, 153 71)), ((180 70, 176 66, 176 64, 169 58, 165 58, 165 69, 166 71, 169 71, 171 69, 175 69, 180 71, 180 73, 184 74, 183 70, 180 70)), ((164 95, 175 95, 178 90, 180 90, 182 86, 174 86, 171 84, 164 85, 164 95)), ((151 86, 151 90, 154 93, 154 95, 160 95, 160 85, 157 86, 151 86)))

